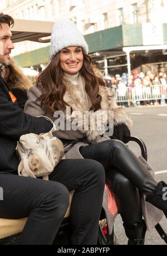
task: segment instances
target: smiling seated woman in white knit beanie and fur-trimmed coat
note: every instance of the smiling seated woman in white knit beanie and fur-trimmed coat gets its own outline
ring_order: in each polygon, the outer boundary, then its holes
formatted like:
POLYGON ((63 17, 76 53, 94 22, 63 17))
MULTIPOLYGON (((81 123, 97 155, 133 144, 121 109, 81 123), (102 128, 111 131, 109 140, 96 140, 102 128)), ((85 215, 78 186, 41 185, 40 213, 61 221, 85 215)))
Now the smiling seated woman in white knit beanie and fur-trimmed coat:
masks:
MULTIPOLYGON (((66 158, 94 159, 104 166, 106 181, 115 193, 129 244, 142 244, 146 228, 139 191, 146 195, 146 201, 159 207, 167 216, 167 203, 156 193, 162 193, 161 189, 166 184, 156 183, 145 165, 122 141, 102 137, 107 129, 103 122, 101 130, 94 128, 92 120, 96 111, 107 111, 107 124, 110 111, 114 111, 113 137, 119 136, 127 142, 124 135, 129 135, 128 127, 132 121, 124 108, 116 105, 104 80, 95 74, 87 53, 86 41, 73 22, 60 20, 55 23, 51 37, 51 62, 40 74, 36 86, 28 92, 25 111, 35 116, 46 115, 54 121, 58 114, 65 113, 65 126, 62 125, 55 135, 65 143, 66 158), (66 107, 71 107, 70 115, 67 115, 66 107), (83 129, 81 121, 87 111, 90 111, 90 118, 85 121, 87 129, 83 129), (69 120, 71 129, 67 127, 69 120)), ((99 122, 98 116, 96 120, 99 122)), ((97 121, 96 126, 99 124, 97 121)))

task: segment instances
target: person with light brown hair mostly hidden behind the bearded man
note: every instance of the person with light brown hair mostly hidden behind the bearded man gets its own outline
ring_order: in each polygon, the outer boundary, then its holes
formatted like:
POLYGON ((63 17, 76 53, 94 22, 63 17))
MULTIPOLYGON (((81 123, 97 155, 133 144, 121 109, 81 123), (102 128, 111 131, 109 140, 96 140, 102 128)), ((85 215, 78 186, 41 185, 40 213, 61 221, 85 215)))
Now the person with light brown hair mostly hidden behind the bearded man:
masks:
POLYGON ((19 106, 24 108, 27 101, 27 91, 32 86, 31 80, 23 74, 12 59, 11 63, 5 68, 3 79, 17 98, 19 106))

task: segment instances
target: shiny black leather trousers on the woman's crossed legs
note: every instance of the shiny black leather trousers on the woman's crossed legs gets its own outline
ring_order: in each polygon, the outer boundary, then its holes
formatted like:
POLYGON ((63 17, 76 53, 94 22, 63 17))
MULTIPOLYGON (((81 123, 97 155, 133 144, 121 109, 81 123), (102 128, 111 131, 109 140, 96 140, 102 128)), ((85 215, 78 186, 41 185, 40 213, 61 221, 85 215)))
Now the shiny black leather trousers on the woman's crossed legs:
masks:
POLYGON ((114 191, 124 223, 131 226, 141 222, 140 192, 149 195, 157 184, 144 164, 120 140, 83 146, 80 153, 104 166, 106 181, 114 191))

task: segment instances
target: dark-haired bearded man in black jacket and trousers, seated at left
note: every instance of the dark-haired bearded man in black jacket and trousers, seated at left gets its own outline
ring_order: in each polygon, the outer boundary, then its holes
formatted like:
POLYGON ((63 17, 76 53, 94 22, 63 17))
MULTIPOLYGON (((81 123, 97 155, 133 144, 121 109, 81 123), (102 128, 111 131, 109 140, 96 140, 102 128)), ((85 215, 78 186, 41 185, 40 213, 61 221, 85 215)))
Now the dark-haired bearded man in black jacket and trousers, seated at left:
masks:
POLYGON ((10 64, 9 54, 14 48, 10 31, 13 24, 11 16, 0 13, 0 217, 28 217, 21 244, 52 244, 68 207, 68 191, 75 190, 71 243, 96 244, 105 184, 101 164, 89 159, 61 160, 50 181, 17 175, 15 149, 19 137, 47 132, 52 124, 24 113, 3 80, 4 67, 10 64))

